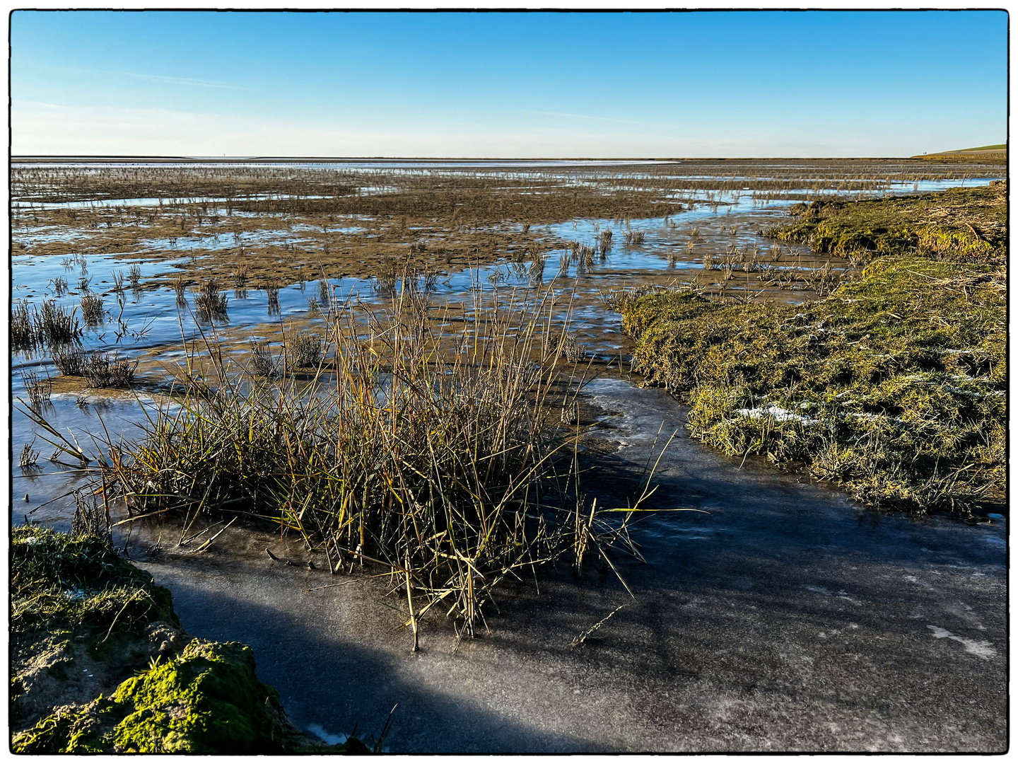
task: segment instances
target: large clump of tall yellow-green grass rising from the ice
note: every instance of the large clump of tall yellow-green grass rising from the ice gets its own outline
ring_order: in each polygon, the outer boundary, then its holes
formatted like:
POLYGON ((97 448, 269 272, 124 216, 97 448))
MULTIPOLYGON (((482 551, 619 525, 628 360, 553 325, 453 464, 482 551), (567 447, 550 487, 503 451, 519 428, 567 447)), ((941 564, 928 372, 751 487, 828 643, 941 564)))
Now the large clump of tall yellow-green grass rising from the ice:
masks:
MULTIPOLYGON (((331 322, 331 376, 309 384, 234 382, 215 347, 190 358, 188 378, 206 364, 218 389, 192 389, 143 442, 112 448, 108 479, 142 511, 271 519, 334 571, 380 562, 407 589, 411 621, 438 607, 468 634, 507 576, 568 550, 577 566, 604 557, 619 534, 607 515, 574 493, 551 500, 574 490, 560 451, 576 428, 560 429, 548 317, 478 314, 450 338, 406 298, 372 314, 366 333, 344 315, 331 322)), ((315 341, 304 358, 289 341, 288 363, 320 359, 315 341)))

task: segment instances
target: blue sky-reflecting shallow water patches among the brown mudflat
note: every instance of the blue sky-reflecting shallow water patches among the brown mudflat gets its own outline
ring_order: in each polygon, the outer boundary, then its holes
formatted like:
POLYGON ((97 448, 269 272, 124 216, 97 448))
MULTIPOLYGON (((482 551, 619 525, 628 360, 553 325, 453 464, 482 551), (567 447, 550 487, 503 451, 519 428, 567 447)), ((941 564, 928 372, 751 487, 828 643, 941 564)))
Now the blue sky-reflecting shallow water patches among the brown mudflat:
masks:
MULTIPOLYGON (((919 190, 935 190, 959 185, 959 181, 920 181, 919 190)), ((975 184, 971 179, 967 185, 975 184)), ((911 183, 906 183, 911 187, 911 183)), ((752 198, 750 194, 723 195, 721 199, 732 202, 730 205, 712 206, 698 204, 692 210, 672 215, 670 218, 648 218, 629 220, 628 223, 614 220, 578 219, 565 223, 536 225, 532 228, 539 233, 546 233, 560 241, 574 241, 581 244, 595 245, 600 240, 600 234, 606 230, 612 231, 612 245, 605 257, 595 254, 589 264, 577 262, 570 257, 569 250, 556 249, 546 251, 544 265, 536 268, 529 257, 522 263, 503 261, 480 267, 476 271, 461 270, 442 275, 435 284, 432 305, 440 309, 445 304, 462 305, 467 310, 480 301, 486 306, 493 305, 498 299, 500 305, 507 306, 511 301, 518 303, 521 298, 535 299, 546 289, 555 298, 556 319, 570 320, 570 328, 577 335, 581 345, 602 357, 620 351, 623 346, 621 317, 608 310, 600 299, 598 292, 609 288, 618 288, 627 283, 647 280, 657 283, 667 283, 671 274, 676 276, 690 269, 699 268, 704 252, 721 254, 732 243, 738 247, 751 245, 756 242, 761 249, 769 245, 767 239, 756 234, 757 229, 766 228, 778 218, 785 216, 785 211, 791 202, 774 201, 766 205, 752 198), (731 225, 737 226, 737 234, 731 235, 728 230, 731 225), (720 225, 720 228, 719 228, 720 225), (698 228, 704 238, 699 239, 694 254, 690 254, 686 244, 690 240, 693 228, 698 228), (644 235, 640 244, 626 245, 624 235, 627 230, 639 231, 644 235), (669 254, 672 263, 669 263, 669 254)), ((245 217, 254 217, 253 213, 245 217)), ((353 219, 345 216, 346 220, 353 219)), ((240 236, 241 243, 268 243, 286 241, 299 243, 303 239, 294 237, 296 232, 320 231, 318 226, 295 224, 289 229, 245 231, 240 236)), ((342 226, 341 223, 328 226, 329 232, 342 231, 356 233, 354 226, 342 226)), ((17 240, 26 242, 43 242, 56 238, 68 238, 82 235, 72 229, 54 231, 52 227, 30 230, 18 233, 17 240)), ((86 234, 87 235, 87 234, 86 234)), ((104 308, 108 312, 105 324, 87 329, 82 344, 89 349, 116 349, 128 357, 136 357, 148 348, 161 349, 158 359, 165 361, 170 367, 183 361, 180 349, 182 336, 188 340, 200 336, 199 329, 208 331, 208 325, 200 325, 192 314, 193 292, 188 289, 187 307, 178 309, 176 294, 173 289, 161 287, 132 291, 127 279, 131 265, 137 265, 142 271, 142 284, 157 276, 165 276, 174 271, 174 266, 187 262, 187 252, 192 249, 232 249, 236 241, 232 233, 222 232, 218 241, 210 236, 181 236, 171 244, 168 239, 151 239, 145 242, 148 247, 179 253, 175 259, 157 260, 152 258, 124 259, 111 255, 89 255, 86 257, 86 277, 90 279, 90 288, 94 293, 104 296, 104 308), (119 305, 117 295, 112 291, 113 274, 120 272, 124 276, 125 291, 123 305, 119 305), (118 320, 119 317, 119 320, 118 320), (126 327, 126 328, 125 328, 126 327), (118 333, 120 336, 117 336, 118 333)), ((800 248, 803 253, 808 248, 800 248)), ((143 253, 138 252, 140 256, 143 253)), ((201 263, 201 257, 199 258, 201 263)), ((59 256, 37 257, 16 255, 10 258, 12 275, 12 298, 27 298, 38 305, 44 298, 53 298, 57 304, 68 310, 78 306, 80 294, 76 293, 76 285, 81 276, 78 262, 70 262, 68 258, 59 256), (65 267, 65 263, 69 267, 65 267), (72 293, 62 297, 54 295, 52 282, 57 277, 68 281, 72 293)), ((778 267, 782 267, 779 265, 778 267)), ((386 305, 390 296, 379 294, 373 288, 370 279, 341 278, 329 280, 330 291, 342 303, 346 299, 376 306, 386 305)), ((398 288, 398 287, 397 287, 398 288)), ((244 292, 234 292, 225 289, 228 295, 228 320, 217 329, 229 329, 231 336, 236 336, 234 330, 241 331, 247 339, 267 335, 273 329, 278 329, 280 321, 287 319, 315 319, 319 313, 312 311, 309 298, 319 298, 319 282, 307 281, 301 289, 298 284, 288 284, 279 289, 278 311, 270 304, 269 293, 264 289, 250 288, 244 292), (272 310, 270 310, 270 308, 272 310)), ((433 312, 439 315, 439 311, 433 312)), ((450 316, 463 317, 462 309, 454 308, 450 316)), ((463 329, 462 321, 451 321, 444 331, 458 332, 463 329)), ((240 349, 231 353, 249 352, 245 343, 238 345, 240 349)), ((19 369, 36 367, 34 371, 41 375, 56 375, 56 370, 43 356, 32 358, 27 353, 13 353, 13 374, 11 377, 11 392, 16 398, 25 397, 24 385, 19 369)), ((77 395, 54 394, 52 405, 46 411, 46 417, 61 431, 70 428, 78 437, 82 446, 91 445, 91 438, 84 433, 101 432, 101 423, 105 424, 114 439, 122 433, 124 437, 132 437, 136 428, 131 423, 139 421, 140 408, 138 400, 129 393, 114 393, 112 397, 106 394, 88 392, 84 394, 90 405, 79 407, 75 400, 77 395), (82 437, 84 440, 82 440, 82 437)), ((151 399, 149 399, 151 403, 151 399)), ((19 405, 15 401, 15 405, 19 405)), ((40 434, 39 428, 27 418, 15 411, 12 413, 12 447, 15 463, 22 445, 40 434)), ((52 436, 51 436, 52 437, 52 436)), ((57 468, 45 459, 53 447, 37 440, 36 448, 41 454, 41 467, 46 473, 63 472, 65 468, 57 468)), ((87 446, 86 450, 90 450, 87 446)), ((91 450, 95 450, 92 446, 91 450)), ((20 475, 20 468, 14 468, 15 475, 20 475)), ((20 501, 24 493, 30 497, 58 496, 69 491, 79 475, 50 475, 36 477, 18 477, 15 487, 15 497, 20 501), (24 484, 22 490, 21 484, 24 484)), ((39 501, 33 499, 24 507, 17 502, 13 507, 14 517, 21 520, 22 509, 31 509, 39 501)), ((47 522, 69 522, 73 511, 71 498, 54 502, 51 507, 40 510, 40 517, 45 514, 47 522)))

